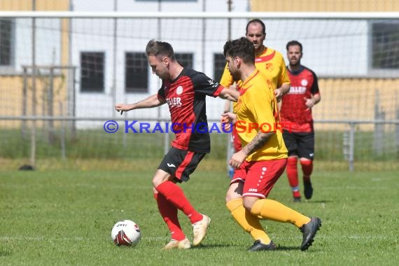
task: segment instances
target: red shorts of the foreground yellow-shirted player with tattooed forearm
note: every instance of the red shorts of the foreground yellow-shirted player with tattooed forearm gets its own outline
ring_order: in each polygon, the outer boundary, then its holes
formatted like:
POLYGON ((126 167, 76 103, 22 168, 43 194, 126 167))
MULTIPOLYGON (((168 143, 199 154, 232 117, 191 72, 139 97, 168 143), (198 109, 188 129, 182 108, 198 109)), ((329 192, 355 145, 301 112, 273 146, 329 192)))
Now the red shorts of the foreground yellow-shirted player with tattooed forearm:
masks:
POLYGON ((268 161, 244 161, 239 169, 235 169, 230 183, 243 182, 243 197, 260 197, 265 199, 284 169, 287 159, 268 161))

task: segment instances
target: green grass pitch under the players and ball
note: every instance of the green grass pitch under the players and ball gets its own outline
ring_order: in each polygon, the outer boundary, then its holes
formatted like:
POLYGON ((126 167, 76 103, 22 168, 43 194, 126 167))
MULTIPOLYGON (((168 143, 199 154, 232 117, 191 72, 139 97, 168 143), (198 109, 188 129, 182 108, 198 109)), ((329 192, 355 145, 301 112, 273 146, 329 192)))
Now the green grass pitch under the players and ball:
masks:
MULTIPOLYGON (((156 163, 135 171, 0 171, 0 265, 397 265, 397 172, 322 171, 316 165, 314 198, 296 204, 284 174, 270 198, 320 217, 323 226, 302 252, 297 228, 262 221, 279 250, 248 253, 253 239, 225 208, 225 167, 205 161, 182 188, 212 218, 208 236, 197 248, 162 251, 169 233, 151 194, 156 163), (140 225, 136 248, 111 241, 121 219, 140 225)), ((180 217, 192 239, 188 218, 180 217)))

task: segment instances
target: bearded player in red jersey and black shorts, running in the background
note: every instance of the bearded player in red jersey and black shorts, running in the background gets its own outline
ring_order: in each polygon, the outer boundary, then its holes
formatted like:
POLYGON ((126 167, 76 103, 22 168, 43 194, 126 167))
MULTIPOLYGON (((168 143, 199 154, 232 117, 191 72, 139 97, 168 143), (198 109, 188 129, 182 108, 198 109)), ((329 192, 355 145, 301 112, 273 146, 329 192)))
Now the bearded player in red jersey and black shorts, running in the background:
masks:
POLYGON ((302 166, 304 197, 309 200, 313 194, 310 175, 314 159, 314 128, 311 108, 320 102, 321 97, 316 74, 300 64, 302 44, 298 41, 290 41, 286 48, 291 87, 288 94, 283 96, 280 114, 283 139, 288 148, 286 173, 294 202, 300 202, 297 160, 299 158, 302 166))

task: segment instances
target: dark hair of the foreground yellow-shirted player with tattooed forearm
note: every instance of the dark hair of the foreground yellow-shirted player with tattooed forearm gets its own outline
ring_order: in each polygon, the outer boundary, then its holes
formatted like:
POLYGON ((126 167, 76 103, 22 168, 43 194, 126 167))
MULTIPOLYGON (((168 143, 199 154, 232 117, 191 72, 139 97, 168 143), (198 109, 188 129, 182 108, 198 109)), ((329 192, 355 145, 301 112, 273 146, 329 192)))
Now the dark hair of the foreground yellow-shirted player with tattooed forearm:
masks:
POLYGON ((223 54, 225 57, 239 57, 244 63, 255 63, 255 48, 253 48, 253 43, 245 37, 226 41, 223 54))

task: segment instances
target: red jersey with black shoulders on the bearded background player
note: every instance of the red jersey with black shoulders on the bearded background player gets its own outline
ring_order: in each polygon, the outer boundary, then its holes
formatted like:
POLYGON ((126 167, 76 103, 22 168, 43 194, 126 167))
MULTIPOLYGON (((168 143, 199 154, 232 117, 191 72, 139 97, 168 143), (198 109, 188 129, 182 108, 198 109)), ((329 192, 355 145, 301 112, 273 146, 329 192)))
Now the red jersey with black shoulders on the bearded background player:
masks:
POLYGON ((283 96, 280 111, 283 129, 291 132, 312 132, 313 117, 304 98, 320 94, 317 76, 306 66, 301 66, 298 71, 288 69, 288 76, 291 81, 290 91, 283 96))

